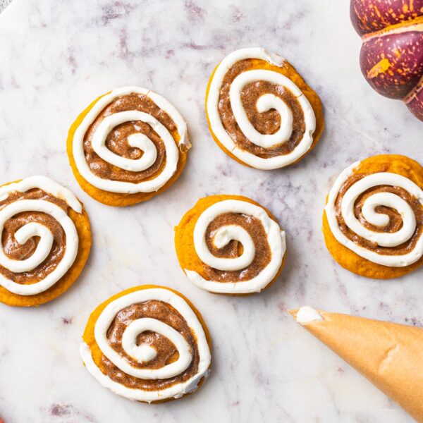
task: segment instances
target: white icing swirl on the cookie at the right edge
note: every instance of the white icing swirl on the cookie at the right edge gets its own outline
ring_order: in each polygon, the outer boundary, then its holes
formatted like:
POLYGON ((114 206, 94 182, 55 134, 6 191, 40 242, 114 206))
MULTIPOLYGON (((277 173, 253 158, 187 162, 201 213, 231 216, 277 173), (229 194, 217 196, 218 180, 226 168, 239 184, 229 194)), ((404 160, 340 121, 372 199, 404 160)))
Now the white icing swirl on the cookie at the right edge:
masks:
MULTIPOLYGON (((403 267, 417 262, 417 260, 419 260, 419 258, 423 255, 423 236, 419 237, 415 247, 407 254, 383 255, 376 251, 367 250, 367 248, 364 248, 361 245, 357 245, 352 240, 348 239, 339 228, 338 220, 336 219, 336 199, 345 181, 354 173, 355 168, 359 165, 360 162, 357 161, 346 168, 345 171, 338 176, 335 184, 329 192, 325 210, 333 236, 339 243, 345 245, 345 247, 348 247, 357 255, 360 255, 360 257, 370 260, 376 264, 391 267, 403 267)), ((365 240, 376 243, 376 245, 379 245, 380 247, 397 247, 398 245, 407 242, 407 240, 410 240, 416 229, 415 214, 410 207, 410 204, 405 202, 401 197, 393 192, 375 192, 367 197, 362 206, 362 216, 364 219, 372 225, 379 227, 384 227, 389 223, 389 216, 386 214, 376 213, 375 208, 377 206, 386 206, 391 209, 395 209, 403 219, 403 226, 397 232, 386 233, 371 231, 369 228, 363 226, 354 214, 354 204, 357 198, 370 188, 378 187, 380 185, 403 188, 403 190, 416 197, 420 204, 423 204, 423 190, 412 182, 412 180, 398 175, 397 173, 379 172, 372 173, 364 176, 364 178, 360 180, 357 180, 357 182, 355 182, 345 192, 341 200, 341 214, 345 224, 351 231, 353 231, 353 233, 356 233, 365 240)))

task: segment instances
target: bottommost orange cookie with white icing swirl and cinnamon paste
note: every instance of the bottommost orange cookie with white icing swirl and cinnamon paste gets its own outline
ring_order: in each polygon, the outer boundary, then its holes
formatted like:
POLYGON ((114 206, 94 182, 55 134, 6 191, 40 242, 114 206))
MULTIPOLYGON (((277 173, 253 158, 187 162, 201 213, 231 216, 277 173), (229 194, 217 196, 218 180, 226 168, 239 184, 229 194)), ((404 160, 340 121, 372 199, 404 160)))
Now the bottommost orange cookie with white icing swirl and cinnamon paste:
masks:
POLYGON ((201 314, 164 286, 124 290, 90 315, 82 360, 102 386, 157 403, 195 391, 209 375, 210 338, 201 314))

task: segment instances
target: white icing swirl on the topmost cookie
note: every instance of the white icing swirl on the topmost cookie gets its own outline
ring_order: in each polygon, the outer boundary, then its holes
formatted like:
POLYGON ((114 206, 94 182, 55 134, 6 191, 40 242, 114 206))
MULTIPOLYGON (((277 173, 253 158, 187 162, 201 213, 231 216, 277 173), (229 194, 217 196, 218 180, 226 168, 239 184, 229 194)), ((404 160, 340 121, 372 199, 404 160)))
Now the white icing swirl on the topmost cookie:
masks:
POLYGON ((233 139, 223 127, 218 109, 223 78, 225 78, 226 73, 233 65, 235 65, 235 63, 244 59, 262 59, 279 67, 283 67, 283 63, 285 62, 285 59, 281 56, 269 53, 269 51, 259 48, 240 49, 233 51, 233 53, 226 56, 216 68, 207 97, 206 109, 212 131, 226 149, 234 154, 235 157, 238 157, 238 159, 252 167, 269 170, 288 166, 300 159, 312 146, 313 133, 316 128, 316 116, 314 115, 313 108, 311 104, 309 104, 307 97, 305 97, 300 88, 298 88, 298 86, 286 76, 278 72, 264 69, 245 71, 240 73, 240 75, 233 80, 229 97, 233 116, 235 117, 235 120, 245 137, 259 147, 270 148, 276 145, 281 145, 289 139, 293 131, 292 112, 281 98, 276 97, 274 94, 263 94, 257 100, 257 111, 259 111, 259 113, 264 113, 265 111, 276 109, 276 111, 278 111, 281 115, 281 127, 276 133, 271 135, 259 133, 249 121, 247 114, 245 113, 245 109, 241 101, 241 92, 245 85, 255 81, 267 81, 288 88, 288 90, 290 90, 290 92, 292 92, 298 100, 304 113, 305 120, 305 133, 302 140, 300 140, 299 144, 295 147, 295 149, 293 149, 293 151, 288 154, 281 154, 267 159, 258 157, 255 154, 240 149, 240 147, 233 142, 233 139))

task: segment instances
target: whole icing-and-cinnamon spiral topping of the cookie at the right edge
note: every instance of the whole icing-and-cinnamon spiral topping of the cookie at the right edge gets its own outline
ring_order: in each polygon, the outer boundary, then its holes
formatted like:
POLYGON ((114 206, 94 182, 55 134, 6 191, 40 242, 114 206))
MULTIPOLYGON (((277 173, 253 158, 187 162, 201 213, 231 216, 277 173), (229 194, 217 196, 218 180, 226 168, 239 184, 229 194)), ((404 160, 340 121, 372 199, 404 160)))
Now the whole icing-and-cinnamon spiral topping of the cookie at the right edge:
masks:
POLYGON ((326 216, 336 240, 376 264, 404 267, 423 255, 423 190, 391 172, 338 176, 329 192, 326 216))

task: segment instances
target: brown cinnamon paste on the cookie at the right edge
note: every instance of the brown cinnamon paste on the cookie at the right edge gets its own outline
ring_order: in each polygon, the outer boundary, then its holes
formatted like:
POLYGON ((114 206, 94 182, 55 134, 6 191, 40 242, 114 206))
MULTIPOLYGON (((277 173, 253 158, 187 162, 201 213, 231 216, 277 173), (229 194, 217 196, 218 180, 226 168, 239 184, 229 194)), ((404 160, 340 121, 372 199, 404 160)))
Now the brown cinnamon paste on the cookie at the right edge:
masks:
POLYGON ((377 192, 392 192, 398 197, 401 197, 405 202, 407 202, 413 213, 415 214, 416 219, 416 229, 415 232, 412 234, 412 237, 407 240, 405 243, 401 245, 397 245, 396 247, 381 247, 376 243, 372 243, 369 240, 362 238, 361 236, 357 235, 350 231, 348 226, 346 226, 345 221, 343 220, 343 216, 341 214, 341 201, 345 192, 358 180, 364 178, 367 174, 364 173, 354 173, 351 175, 339 190, 338 197, 336 198, 335 202, 335 210, 336 210, 336 219, 338 221, 338 226, 341 229, 342 233, 349 239, 352 240, 357 245, 361 247, 367 248, 367 250, 372 250, 377 252, 381 255, 405 255, 411 250, 414 249, 417 240, 423 234, 423 208, 420 204, 419 200, 416 197, 407 192, 403 188, 400 187, 393 187, 391 185, 379 185, 377 187, 370 188, 369 190, 364 191, 354 204, 354 215, 360 221, 362 226, 369 229, 369 231, 374 232, 386 232, 386 233, 396 233, 403 227, 403 219, 401 218, 400 214, 395 210, 391 209, 390 207, 385 206, 377 206, 375 208, 376 213, 386 214, 389 216, 389 223, 387 226, 374 226, 362 216, 362 206, 365 200, 370 197, 371 195, 376 194, 377 192))

